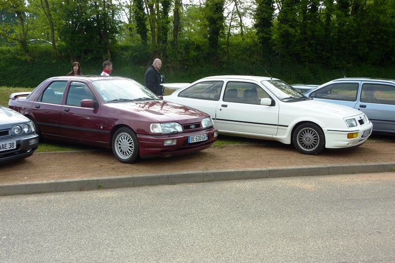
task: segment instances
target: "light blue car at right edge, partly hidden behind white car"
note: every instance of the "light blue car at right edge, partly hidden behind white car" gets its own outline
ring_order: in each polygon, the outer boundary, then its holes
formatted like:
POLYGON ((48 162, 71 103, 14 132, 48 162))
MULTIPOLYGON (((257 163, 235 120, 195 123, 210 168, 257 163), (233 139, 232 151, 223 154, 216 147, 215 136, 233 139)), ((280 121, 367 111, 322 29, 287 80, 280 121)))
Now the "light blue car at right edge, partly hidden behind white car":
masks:
POLYGON ((358 109, 373 123, 373 132, 395 135, 395 80, 340 78, 329 81, 305 96, 358 109))

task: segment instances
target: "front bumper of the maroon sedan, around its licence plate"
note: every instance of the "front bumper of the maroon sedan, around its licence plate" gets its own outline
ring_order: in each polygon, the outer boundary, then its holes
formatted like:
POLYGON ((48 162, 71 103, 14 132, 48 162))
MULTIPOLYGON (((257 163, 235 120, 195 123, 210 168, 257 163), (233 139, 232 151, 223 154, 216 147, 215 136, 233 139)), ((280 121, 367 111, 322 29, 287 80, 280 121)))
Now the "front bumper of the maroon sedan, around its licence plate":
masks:
POLYGON ((182 155, 200 151, 210 147, 217 139, 218 130, 210 129, 200 132, 190 132, 182 134, 165 134, 159 136, 137 134, 141 158, 151 158, 160 156, 182 155), (188 143, 189 136, 207 134, 208 139, 195 143, 188 143), (175 140, 175 144, 164 145, 165 140, 175 140))

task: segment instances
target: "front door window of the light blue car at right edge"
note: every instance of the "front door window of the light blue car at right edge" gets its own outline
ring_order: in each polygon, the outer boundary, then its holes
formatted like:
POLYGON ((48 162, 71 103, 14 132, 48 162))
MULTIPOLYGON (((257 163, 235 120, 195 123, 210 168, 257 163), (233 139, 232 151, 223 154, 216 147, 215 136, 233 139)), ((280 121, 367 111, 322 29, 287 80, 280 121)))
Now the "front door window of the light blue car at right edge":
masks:
POLYGON ((361 102, 395 105, 395 87, 381 84, 363 84, 361 102))

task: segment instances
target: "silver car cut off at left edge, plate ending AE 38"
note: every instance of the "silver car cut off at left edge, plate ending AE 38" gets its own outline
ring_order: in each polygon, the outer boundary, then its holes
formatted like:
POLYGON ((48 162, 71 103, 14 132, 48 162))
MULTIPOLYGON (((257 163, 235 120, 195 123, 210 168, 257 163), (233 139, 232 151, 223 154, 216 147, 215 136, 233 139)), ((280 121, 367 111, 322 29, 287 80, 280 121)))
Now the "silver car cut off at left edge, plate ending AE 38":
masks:
POLYGON ((0 164, 27 158, 39 145, 31 120, 0 105, 0 164))

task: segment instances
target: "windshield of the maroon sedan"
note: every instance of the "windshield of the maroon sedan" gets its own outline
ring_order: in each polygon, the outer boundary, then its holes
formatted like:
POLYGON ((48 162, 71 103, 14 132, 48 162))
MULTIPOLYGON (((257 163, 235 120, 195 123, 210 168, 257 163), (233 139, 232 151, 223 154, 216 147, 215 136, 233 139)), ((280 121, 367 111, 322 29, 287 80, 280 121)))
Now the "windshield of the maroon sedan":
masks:
POLYGON ((132 79, 103 79, 92 81, 92 84, 105 102, 158 99, 149 89, 132 79))

